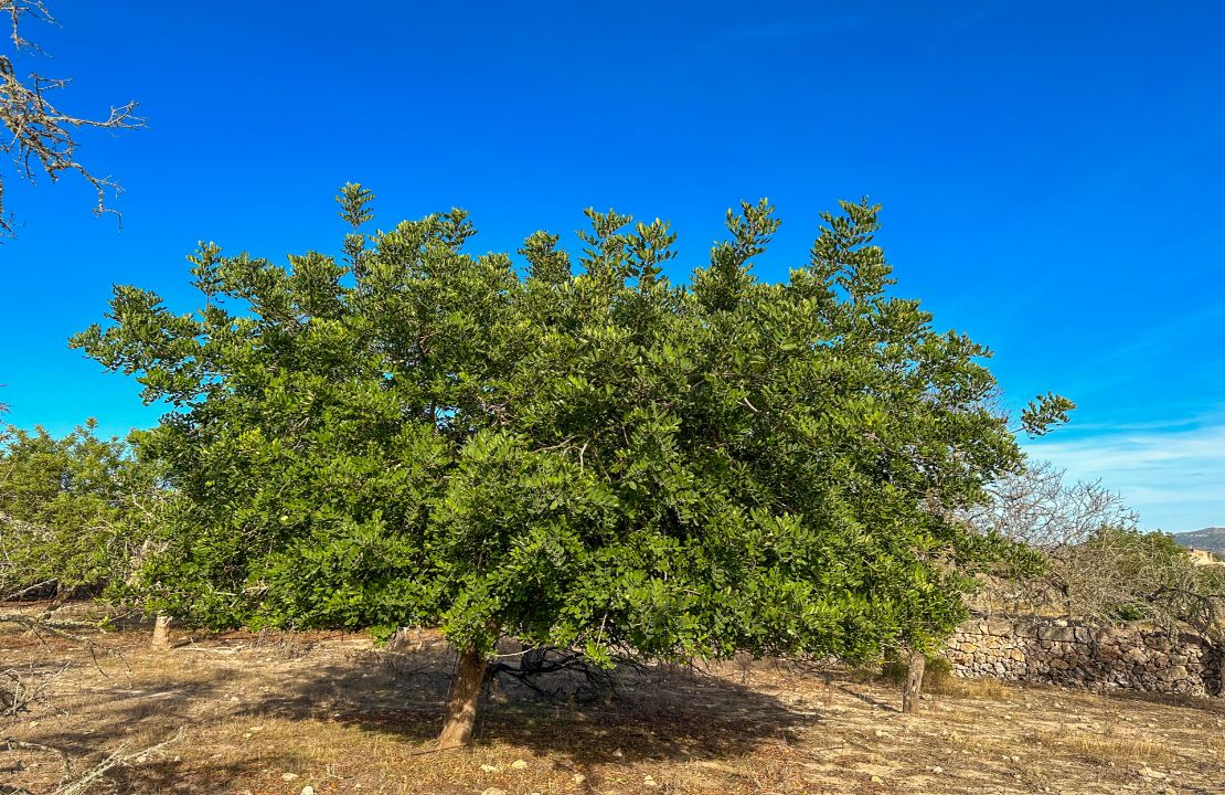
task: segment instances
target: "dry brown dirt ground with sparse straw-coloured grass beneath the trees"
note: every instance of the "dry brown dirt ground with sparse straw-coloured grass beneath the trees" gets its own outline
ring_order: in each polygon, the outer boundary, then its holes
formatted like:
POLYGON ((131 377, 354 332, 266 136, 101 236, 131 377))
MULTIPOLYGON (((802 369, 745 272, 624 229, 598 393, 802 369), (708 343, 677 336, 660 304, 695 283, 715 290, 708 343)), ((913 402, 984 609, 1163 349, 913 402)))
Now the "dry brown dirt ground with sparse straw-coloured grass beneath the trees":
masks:
POLYGON ((62 750, 75 777, 119 761, 97 793, 1225 793, 1223 699, 947 679, 904 715, 883 679, 768 660, 620 671, 590 701, 570 675, 541 681, 556 695, 503 675, 473 745, 429 752, 454 661, 435 636, 398 653, 358 635, 174 642, 0 635, 0 669, 47 682, 0 723, 0 793, 69 780, 21 742, 62 750))

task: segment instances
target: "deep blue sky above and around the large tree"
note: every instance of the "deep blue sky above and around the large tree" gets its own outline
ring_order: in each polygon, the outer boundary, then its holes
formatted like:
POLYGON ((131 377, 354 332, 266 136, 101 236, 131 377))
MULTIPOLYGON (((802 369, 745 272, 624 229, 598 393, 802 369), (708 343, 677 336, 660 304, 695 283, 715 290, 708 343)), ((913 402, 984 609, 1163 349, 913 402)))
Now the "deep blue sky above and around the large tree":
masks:
MULTIPOLYGON (((65 339, 113 283, 186 307, 197 240, 336 251, 332 196, 383 225, 462 206, 478 250, 570 234, 587 206, 670 218, 682 277, 723 212, 768 196, 760 261, 805 261, 816 214, 867 195, 897 292, 992 347, 1006 403, 1056 390, 1028 445, 1149 528, 1225 524, 1225 6, 1216 2, 99 4, 27 33, 61 105, 141 103, 85 138, 125 189, 7 180, 0 391, 11 421, 156 421, 65 339)), ((5 173, 11 176, 12 171, 5 173)))

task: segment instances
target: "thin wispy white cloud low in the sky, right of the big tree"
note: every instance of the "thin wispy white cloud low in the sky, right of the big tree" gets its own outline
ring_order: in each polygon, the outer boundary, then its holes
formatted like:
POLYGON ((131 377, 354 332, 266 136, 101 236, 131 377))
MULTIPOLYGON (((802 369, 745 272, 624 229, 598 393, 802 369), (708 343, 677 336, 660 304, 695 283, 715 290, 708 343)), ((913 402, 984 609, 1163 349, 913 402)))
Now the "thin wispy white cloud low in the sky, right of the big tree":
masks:
POLYGON ((1225 420, 1118 426, 1077 439, 1056 434, 1023 447, 1072 478, 1117 491, 1145 528, 1225 526, 1225 420))

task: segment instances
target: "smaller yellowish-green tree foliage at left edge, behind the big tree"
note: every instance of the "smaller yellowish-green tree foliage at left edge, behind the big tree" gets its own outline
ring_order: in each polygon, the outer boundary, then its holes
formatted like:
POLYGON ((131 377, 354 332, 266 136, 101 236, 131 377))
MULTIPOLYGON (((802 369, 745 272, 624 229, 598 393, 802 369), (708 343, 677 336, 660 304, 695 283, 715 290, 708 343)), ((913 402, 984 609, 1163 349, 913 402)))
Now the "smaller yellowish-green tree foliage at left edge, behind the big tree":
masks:
POLYGON ((126 521, 152 478, 96 424, 56 439, 0 429, 0 593, 54 582, 98 588, 130 557, 126 521))

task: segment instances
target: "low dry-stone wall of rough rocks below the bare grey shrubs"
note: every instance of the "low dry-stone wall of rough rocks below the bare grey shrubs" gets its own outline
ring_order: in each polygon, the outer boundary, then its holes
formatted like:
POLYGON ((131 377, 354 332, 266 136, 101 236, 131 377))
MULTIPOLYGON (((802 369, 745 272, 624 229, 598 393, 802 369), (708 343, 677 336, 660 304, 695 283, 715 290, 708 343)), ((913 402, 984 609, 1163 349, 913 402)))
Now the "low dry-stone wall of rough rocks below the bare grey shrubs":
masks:
POLYGON ((1197 635, 1074 621, 975 617, 944 650, 957 676, 1090 690, 1223 696, 1225 655, 1197 635))

